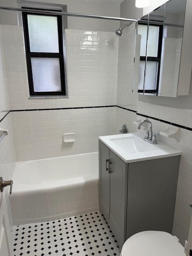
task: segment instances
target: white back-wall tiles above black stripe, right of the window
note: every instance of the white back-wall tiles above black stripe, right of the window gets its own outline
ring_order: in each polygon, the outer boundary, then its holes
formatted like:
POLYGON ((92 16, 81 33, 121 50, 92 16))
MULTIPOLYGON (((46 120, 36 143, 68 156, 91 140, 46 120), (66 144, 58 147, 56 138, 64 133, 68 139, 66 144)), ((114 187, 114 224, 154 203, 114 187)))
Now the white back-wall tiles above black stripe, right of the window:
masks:
MULTIPOLYGON (((113 32, 65 30, 71 106, 115 105, 118 38, 113 32)), ((65 102, 63 103, 65 107, 65 102)))

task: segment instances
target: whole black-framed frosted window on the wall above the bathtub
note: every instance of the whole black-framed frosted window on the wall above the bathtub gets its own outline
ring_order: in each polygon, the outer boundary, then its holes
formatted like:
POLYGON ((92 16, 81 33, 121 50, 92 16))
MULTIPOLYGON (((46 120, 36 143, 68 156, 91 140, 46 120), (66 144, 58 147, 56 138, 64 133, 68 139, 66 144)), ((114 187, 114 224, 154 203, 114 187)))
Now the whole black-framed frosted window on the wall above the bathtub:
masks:
POLYGON ((22 12, 22 17, 30 95, 66 95, 62 16, 22 12))

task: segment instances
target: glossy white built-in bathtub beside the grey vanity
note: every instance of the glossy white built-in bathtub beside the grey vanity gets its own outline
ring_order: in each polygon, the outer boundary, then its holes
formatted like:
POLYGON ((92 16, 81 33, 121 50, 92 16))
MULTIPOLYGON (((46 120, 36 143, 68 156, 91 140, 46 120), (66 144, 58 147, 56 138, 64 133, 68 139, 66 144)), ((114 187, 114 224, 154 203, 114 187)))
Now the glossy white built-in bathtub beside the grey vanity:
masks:
POLYGON ((98 152, 17 162, 12 179, 13 225, 98 210, 98 152))

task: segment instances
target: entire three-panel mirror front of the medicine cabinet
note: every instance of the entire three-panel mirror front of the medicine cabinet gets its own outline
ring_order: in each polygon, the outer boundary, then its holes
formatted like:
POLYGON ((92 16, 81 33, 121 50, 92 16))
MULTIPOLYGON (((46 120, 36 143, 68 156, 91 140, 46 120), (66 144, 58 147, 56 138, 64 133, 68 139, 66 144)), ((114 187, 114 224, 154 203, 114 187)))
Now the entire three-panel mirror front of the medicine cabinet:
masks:
POLYGON ((177 97, 186 0, 170 0, 136 24, 133 92, 177 97))

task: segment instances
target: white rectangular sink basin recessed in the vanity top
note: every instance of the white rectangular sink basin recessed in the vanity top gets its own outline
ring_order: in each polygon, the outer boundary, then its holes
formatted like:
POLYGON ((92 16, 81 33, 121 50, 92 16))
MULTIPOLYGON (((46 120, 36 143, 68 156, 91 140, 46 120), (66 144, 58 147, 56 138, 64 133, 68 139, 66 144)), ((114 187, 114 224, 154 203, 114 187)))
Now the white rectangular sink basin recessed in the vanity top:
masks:
POLYGON ((158 148, 155 146, 149 143, 147 144, 144 140, 140 140, 135 136, 125 138, 112 138, 110 141, 130 154, 136 152, 158 150, 158 148))

